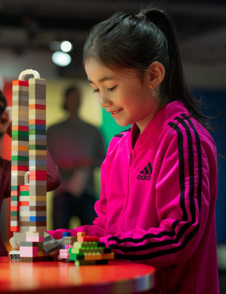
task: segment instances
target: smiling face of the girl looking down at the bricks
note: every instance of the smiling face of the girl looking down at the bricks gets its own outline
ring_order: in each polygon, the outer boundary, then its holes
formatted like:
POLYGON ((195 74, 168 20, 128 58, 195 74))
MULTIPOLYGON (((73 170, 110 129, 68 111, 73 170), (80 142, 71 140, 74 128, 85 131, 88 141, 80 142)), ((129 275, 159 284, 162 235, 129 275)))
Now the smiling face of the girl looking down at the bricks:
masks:
POLYGON ((94 59, 85 64, 85 71, 97 100, 120 126, 137 124, 144 130, 158 108, 158 98, 151 96, 149 75, 141 78, 134 69, 113 71, 94 59))

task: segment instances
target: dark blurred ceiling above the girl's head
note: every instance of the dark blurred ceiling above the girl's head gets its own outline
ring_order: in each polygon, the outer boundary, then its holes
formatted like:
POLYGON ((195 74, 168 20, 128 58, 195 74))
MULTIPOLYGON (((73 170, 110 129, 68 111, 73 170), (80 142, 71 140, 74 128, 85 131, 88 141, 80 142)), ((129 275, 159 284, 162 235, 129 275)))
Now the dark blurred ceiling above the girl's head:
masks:
MULTIPOLYGON (((117 10, 139 12, 151 1, 0 0, 0 50, 14 54, 50 51, 51 41, 73 44, 73 65, 60 69, 73 76, 89 29, 117 10)), ((162 1, 161 1, 162 2, 162 1)), ((226 1, 164 1, 174 15, 182 56, 199 63, 226 64, 226 1), (218 62, 218 61, 217 61, 218 62)))

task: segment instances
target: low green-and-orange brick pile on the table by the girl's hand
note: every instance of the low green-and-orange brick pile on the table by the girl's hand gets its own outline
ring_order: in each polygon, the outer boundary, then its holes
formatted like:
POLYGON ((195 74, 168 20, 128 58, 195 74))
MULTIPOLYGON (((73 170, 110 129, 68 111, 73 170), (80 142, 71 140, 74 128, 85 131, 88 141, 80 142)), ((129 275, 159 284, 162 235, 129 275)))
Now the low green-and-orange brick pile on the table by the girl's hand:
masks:
POLYGON ((76 238, 71 237, 71 233, 64 232, 60 258, 67 262, 75 261, 75 265, 107 264, 109 259, 114 258, 114 253, 111 248, 99 242, 99 237, 86 236, 86 233, 79 232, 76 238))

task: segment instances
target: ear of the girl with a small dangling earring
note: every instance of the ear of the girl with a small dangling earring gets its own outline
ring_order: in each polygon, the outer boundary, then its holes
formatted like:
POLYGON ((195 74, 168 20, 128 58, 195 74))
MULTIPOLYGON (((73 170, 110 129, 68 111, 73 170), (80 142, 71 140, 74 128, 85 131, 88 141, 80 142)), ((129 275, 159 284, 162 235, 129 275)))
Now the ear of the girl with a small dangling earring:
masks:
POLYGON ((147 72, 147 82, 149 88, 155 89, 163 81, 163 78, 165 76, 165 68, 160 62, 155 61, 150 64, 147 72))

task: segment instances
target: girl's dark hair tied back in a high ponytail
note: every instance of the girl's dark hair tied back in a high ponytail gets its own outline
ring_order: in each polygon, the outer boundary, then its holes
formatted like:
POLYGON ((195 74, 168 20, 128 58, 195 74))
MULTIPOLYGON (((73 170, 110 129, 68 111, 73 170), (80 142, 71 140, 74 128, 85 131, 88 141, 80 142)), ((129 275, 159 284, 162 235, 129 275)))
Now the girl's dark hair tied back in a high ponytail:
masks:
POLYGON ((90 58, 113 69, 133 68, 141 75, 151 63, 161 62, 165 77, 159 109, 167 98, 169 102, 181 100, 197 121, 213 129, 211 117, 202 114, 201 101, 185 82, 174 23, 163 9, 148 6, 139 14, 117 12, 94 26, 83 49, 83 64, 90 58))

